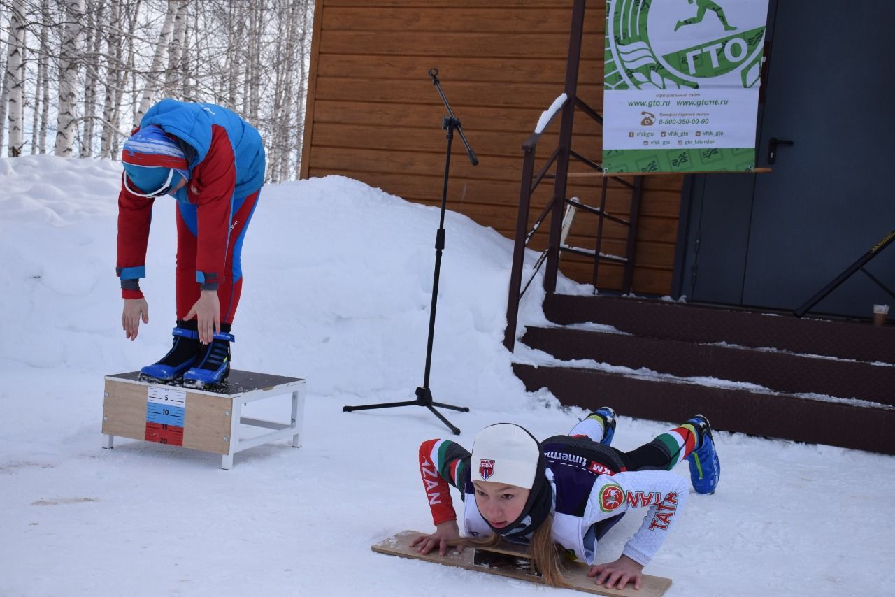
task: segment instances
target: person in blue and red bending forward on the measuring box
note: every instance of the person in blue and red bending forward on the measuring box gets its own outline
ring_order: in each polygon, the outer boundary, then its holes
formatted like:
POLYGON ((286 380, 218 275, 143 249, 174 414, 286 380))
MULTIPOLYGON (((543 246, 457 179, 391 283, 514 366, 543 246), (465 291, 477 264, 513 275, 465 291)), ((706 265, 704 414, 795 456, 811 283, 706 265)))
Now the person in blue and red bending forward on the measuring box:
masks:
POLYGON ((251 124, 212 104, 163 99, 124 142, 117 275, 122 327, 136 339, 149 305, 140 288, 152 204, 177 200, 176 325, 171 350, 141 369, 157 382, 202 388, 230 372, 231 326, 243 287, 240 253, 264 184, 264 147, 251 124))

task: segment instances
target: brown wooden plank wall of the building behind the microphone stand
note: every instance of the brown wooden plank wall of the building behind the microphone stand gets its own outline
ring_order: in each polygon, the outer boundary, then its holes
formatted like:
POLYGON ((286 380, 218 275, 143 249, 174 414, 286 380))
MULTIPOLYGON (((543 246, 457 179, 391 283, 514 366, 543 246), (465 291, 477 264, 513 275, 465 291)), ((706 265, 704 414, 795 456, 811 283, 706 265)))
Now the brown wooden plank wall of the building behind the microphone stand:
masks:
MULTIPOLYGON (((448 209, 515 235, 521 145, 563 92, 571 0, 317 0, 302 176, 345 175, 406 200, 439 205, 444 173, 442 89, 479 157, 473 167, 455 138, 448 209)), ((605 2, 589 2, 578 96, 602 107, 605 2)), ((539 142, 539 163, 558 142, 559 117, 539 142)), ((575 113, 573 149, 601 161, 601 131, 575 113)), ((536 166, 536 169, 539 166, 536 166)), ((584 166, 573 165, 582 172, 584 166)), ((634 291, 668 294, 682 177, 644 177, 634 291)), ((531 221, 550 200, 541 183, 531 221)), ((570 180, 569 197, 599 205, 597 179, 570 180)), ((610 185, 607 211, 626 217, 630 192, 610 185)), ((541 249, 546 226, 529 245, 541 249)), ((623 255, 624 226, 604 224, 601 251, 623 255)), ((592 249, 596 217, 579 211, 568 243, 592 249)), ((592 261, 564 254, 569 277, 591 281, 592 261)), ((622 269, 601 264, 598 286, 620 288, 622 269)))

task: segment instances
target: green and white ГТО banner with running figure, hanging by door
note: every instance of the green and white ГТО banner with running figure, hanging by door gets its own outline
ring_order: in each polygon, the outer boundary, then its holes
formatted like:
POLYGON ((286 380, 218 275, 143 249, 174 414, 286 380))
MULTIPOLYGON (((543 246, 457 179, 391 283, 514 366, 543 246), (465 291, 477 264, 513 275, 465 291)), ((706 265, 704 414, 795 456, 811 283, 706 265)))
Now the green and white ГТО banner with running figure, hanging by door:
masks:
POLYGON ((603 170, 749 171, 768 0, 608 0, 603 170))

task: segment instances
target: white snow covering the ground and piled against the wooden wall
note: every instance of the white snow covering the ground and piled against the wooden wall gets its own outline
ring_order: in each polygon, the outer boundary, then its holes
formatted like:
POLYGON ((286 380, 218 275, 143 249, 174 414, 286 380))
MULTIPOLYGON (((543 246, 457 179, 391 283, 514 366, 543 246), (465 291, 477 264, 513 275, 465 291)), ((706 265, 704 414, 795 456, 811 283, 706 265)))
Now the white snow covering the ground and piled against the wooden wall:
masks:
MULTIPOLYGON (((437 209, 341 177, 262 192, 234 366, 308 380, 303 448, 253 448, 223 471, 182 448, 101 448, 103 376, 170 342, 175 201, 157 201, 150 321, 131 343, 115 278, 120 167, 30 157, 0 159, 0 175, 0 595, 573 594, 370 550, 431 527, 416 451, 447 429, 422 408, 342 406, 412 399, 422 383, 437 209)), ((568 431, 583 413, 525 392, 501 345, 511 243, 456 213, 446 228, 430 387, 472 408, 446 412, 458 441, 499 421, 568 431)), ((526 322, 542 321, 539 293, 526 322)), ((287 400, 250 406, 276 418, 287 400)), ((616 445, 667 426, 621 416, 616 445)), ((691 496, 646 568, 673 579, 667 594, 895 594, 895 458, 716 435, 719 490, 691 496)), ((598 559, 616 559, 638 525, 626 516, 598 559)))

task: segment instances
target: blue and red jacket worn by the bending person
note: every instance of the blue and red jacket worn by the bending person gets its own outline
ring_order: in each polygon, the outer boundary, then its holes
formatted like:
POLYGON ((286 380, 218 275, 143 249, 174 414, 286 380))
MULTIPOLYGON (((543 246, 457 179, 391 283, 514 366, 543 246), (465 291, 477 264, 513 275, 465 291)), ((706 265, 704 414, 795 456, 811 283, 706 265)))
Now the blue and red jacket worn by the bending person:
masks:
MULTIPOLYGON (((190 181, 175 197, 197 207, 196 279, 217 287, 225 272, 233 201, 251 195, 264 184, 261 136, 251 124, 225 107, 175 99, 163 99, 150 107, 141 126, 149 124, 182 141, 190 181)), ((146 276, 152 203, 152 198, 127 192, 123 180, 118 195, 116 271, 123 280, 124 298, 142 297, 136 281, 146 276)))

